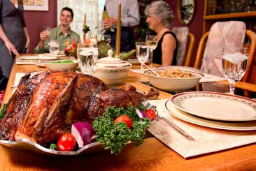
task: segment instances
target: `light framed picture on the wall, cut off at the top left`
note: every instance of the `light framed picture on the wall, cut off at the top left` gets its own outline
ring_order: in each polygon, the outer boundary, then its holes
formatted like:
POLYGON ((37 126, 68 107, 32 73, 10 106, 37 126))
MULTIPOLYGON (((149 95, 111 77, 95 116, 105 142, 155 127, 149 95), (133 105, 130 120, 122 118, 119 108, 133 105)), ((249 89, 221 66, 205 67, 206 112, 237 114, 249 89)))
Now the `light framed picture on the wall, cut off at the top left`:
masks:
POLYGON ((24 10, 49 10, 48 0, 23 0, 24 10))

